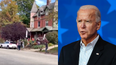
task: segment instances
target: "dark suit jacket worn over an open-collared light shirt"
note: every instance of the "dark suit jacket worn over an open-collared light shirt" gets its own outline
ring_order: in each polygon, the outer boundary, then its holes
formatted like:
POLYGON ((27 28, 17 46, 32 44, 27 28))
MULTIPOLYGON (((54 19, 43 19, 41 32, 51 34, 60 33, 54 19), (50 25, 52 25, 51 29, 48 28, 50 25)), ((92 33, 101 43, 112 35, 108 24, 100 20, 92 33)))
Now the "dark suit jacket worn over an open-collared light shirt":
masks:
MULTIPOLYGON (((78 65, 79 51, 80 41, 64 46, 58 65, 78 65)), ((87 65, 116 65, 116 46, 99 37, 87 65)))

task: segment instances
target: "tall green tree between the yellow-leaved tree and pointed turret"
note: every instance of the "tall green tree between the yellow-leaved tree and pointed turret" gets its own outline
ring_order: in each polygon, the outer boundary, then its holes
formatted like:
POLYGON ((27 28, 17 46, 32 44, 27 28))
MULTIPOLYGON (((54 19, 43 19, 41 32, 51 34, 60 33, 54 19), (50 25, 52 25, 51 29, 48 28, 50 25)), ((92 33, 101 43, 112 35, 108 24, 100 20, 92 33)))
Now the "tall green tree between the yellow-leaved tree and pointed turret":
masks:
POLYGON ((34 0, 15 0, 18 5, 18 12, 24 24, 29 25, 30 11, 34 0))

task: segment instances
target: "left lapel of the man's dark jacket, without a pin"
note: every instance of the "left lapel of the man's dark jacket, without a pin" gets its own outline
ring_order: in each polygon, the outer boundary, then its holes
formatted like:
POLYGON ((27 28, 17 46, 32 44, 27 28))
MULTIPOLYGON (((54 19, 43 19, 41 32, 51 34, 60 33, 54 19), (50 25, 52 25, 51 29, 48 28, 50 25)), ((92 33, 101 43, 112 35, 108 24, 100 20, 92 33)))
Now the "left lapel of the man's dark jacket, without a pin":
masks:
POLYGON ((78 65, 78 61, 79 61, 79 52, 80 52, 80 41, 78 41, 76 43, 76 45, 74 46, 74 50, 72 52, 72 65, 78 65))

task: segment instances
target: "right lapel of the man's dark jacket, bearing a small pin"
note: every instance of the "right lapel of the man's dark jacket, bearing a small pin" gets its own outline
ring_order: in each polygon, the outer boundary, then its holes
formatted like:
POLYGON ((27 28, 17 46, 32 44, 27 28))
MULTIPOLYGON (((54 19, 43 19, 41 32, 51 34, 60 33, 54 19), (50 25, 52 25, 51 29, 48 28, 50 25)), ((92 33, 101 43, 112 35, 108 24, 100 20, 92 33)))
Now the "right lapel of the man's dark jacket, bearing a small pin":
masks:
POLYGON ((98 61, 98 59, 101 57, 102 52, 103 52, 103 48, 104 48, 104 41, 102 40, 101 37, 99 37, 98 42, 96 43, 93 52, 90 56, 90 59, 88 61, 87 65, 95 65, 96 62, 98 61))

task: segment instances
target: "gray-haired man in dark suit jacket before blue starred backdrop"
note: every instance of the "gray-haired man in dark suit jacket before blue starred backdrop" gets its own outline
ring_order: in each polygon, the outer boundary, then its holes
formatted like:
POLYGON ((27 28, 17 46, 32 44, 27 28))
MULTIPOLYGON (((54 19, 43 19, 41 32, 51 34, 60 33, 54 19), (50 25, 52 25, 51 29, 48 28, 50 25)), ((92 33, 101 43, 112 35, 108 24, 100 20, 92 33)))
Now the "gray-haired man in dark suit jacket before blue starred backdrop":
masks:
POLYGON ((62 48, 58 65, 116 65, 116 46, 97 34, 101 14, 93 5, 81 6, 77 12, 77 28, 81 40, 62 48))

